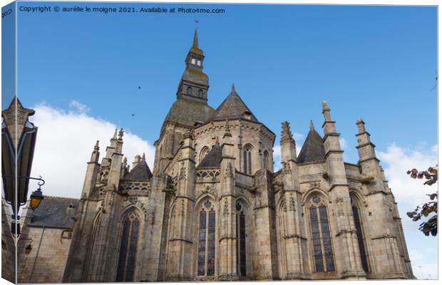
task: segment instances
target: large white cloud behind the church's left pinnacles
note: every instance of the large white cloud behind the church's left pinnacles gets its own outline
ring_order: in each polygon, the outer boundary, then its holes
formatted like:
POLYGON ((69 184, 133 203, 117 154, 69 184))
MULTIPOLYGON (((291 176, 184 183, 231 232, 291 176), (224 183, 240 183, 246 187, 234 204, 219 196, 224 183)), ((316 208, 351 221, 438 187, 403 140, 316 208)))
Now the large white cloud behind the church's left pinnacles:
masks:
MULTIPOLYGON (((86 162, 91 159, 96 140, 100 140, 100 157, 103 157, 115 128, 118 128, 111 122, 87 115, 89 108, 86 105, 71 101, 69 106, 71 110, 37 105, 34 108, 36 114, 30 118, 38 127, 31 176, 41 175, 46 180, 43 195, 79 198, 86 162)), ((128 157, 128 163, 143 152, 152 169, 155 148, 137 135, 125 133, 123 154, 128 157)), ((29 187, 31 193, 36 189, 36 182, 32 180, 29 187)))

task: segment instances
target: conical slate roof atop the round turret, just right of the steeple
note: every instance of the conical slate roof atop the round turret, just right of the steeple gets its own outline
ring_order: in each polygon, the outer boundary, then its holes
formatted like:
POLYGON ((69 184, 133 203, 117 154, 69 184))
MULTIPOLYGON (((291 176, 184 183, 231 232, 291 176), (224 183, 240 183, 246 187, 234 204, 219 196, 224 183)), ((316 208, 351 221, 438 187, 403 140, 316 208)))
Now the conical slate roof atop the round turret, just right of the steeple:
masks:
POLYGON ((240 95, 236 93, 234 86, 230 94, 222 101, 212 116, 212 120, 225 120, 226 118, 229 118, 229 120, 247 119, 258 123, 255 115, 253 115, 247 105, 245 105, 240 95), (246 117, 246 113, 250 114, 250 118, 246 117))

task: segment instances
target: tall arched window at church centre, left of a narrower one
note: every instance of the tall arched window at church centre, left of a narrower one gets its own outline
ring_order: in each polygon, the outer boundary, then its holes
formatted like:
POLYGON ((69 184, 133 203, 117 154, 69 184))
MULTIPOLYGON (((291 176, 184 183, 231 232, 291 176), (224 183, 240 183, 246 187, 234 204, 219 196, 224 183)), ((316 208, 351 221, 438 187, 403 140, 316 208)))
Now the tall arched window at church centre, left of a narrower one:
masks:
POLYGON ((197 275, 215 275, 215 209, 209 200, 200 209, 197 275))

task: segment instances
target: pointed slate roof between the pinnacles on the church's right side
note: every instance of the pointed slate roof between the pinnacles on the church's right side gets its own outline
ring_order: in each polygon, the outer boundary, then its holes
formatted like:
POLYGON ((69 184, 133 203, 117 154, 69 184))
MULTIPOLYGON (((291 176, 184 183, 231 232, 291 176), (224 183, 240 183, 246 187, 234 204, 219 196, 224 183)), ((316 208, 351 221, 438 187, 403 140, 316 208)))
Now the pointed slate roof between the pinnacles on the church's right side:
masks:
POLYGON ((310 127, 309 135, 307 135, 304 145, 302 145, 297 162, 314 162, 324 160, 324 157, 325 150, 322 144, 322 137, 313 127, 310 127))

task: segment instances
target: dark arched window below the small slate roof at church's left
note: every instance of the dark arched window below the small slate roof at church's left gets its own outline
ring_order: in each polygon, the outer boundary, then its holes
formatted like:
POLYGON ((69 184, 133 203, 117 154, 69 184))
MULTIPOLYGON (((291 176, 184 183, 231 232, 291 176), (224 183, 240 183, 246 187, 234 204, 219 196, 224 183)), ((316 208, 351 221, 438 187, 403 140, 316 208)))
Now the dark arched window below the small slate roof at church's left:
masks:
POLYGON ((135 209, 132 209, 125 214, 125 217, 123 218, 117 267, 117 282, 133 281, 139 228, 140 219, 138 218, 135 209))

